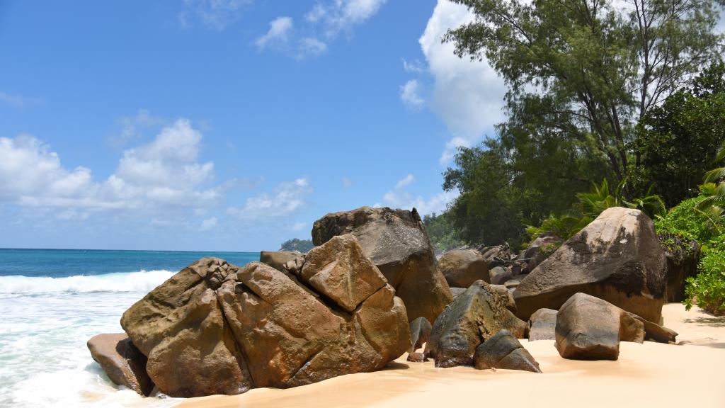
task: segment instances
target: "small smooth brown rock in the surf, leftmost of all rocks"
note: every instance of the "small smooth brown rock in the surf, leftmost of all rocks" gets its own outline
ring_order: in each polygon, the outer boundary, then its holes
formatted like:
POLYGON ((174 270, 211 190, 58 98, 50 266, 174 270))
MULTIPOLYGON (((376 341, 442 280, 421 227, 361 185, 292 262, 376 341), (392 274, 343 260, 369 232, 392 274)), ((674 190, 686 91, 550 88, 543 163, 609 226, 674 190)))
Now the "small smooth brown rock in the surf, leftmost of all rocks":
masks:
POLYGON ((117 385, 124 385, 143 396, 154 389, 146 373, 146 356, 133 346, 126 333, 95 335, 88 340, 91 356, 117 385))

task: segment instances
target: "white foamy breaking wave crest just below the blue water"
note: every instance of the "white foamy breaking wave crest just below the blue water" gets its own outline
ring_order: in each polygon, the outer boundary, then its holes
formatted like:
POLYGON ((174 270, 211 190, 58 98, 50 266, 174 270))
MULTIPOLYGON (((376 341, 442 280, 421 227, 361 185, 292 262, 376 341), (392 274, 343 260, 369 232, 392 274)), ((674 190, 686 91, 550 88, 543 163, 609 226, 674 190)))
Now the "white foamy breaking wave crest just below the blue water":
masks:
POLYGON ((34 293, 146 293, 172 277, 167 270, 138 271, 115 274, 78 275, 72 277, 0 277, 0 294, 28 295, 34 293))

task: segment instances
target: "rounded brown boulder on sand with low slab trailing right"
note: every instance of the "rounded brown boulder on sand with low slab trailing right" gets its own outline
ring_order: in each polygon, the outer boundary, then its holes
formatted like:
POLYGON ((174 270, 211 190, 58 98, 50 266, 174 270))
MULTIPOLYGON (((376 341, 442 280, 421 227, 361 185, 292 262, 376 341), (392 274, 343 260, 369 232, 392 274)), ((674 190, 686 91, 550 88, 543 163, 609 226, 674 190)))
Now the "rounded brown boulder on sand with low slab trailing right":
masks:
POLYGON ((674 341, 677 335, 600 298, 576 293, 558 311, 556 348, 566 359, 616 360, 620 341, 642 343, 648 330, 650 337, 662 340, 674 341))

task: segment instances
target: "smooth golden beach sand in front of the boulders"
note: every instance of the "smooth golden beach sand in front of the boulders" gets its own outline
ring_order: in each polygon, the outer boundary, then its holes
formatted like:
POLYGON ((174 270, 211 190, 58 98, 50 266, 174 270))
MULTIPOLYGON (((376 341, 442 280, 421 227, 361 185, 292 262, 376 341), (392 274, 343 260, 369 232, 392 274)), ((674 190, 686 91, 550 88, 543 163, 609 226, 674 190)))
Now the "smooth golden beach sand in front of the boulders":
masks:
POLYGON ((552 340, 522 340, 543 374, 437 369, 404 355, 378 372, 188 399, 178 407, 725 407, 725 317, 685 311, 679 303, 664 306, 663 317, 684 344, 622 342, 616 362, 567 360, 552 340))

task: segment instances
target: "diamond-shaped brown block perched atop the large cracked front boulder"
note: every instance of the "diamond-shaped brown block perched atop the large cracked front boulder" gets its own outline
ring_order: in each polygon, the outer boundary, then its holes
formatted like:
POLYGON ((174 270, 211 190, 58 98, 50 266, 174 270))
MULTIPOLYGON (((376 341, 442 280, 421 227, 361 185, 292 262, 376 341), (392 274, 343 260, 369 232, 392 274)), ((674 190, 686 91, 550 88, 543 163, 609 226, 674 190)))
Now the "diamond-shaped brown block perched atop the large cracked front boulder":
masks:
POLYGON ((355 310, 386 285, 385 277, 365 257, 353 235, 332 237, 325 245, 312 248, 300 277, 346 311, 355 310))

